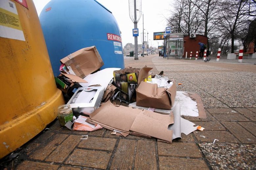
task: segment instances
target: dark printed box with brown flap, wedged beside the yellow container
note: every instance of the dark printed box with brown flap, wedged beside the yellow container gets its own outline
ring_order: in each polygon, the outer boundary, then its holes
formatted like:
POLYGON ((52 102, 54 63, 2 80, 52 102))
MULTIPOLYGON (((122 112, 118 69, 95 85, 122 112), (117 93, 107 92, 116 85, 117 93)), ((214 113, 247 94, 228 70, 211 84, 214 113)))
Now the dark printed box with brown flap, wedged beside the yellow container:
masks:
POLYGON ((73 74, 60 74, 55 77, 57 87, 68 96, 73 96, 76 90, 81 87, 79 83, 87 83, 85 80, 73 74))

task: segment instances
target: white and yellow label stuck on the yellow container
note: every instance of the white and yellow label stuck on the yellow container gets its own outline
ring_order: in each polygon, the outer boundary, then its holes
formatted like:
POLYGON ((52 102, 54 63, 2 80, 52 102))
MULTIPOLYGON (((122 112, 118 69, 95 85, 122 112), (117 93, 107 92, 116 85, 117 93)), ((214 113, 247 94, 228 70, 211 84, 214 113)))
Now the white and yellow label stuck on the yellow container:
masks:
POLYGON ((0 37, 25 41, 15 3, 0 1, 0 37))

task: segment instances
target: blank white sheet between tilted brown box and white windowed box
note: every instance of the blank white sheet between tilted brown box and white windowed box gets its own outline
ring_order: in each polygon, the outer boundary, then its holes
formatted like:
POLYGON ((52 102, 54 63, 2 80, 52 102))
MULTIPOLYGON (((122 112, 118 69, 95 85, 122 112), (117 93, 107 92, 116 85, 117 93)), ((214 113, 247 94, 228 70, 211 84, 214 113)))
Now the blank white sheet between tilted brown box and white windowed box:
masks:
POLYGON ((96 73, 89 74, 83 80, 87 81, 88 83, 80 83, 82 87, 89 87, 94 85, 101 85, 106 90, 107 85, 113 79, 113 71, 119 70, 120 68, 105 68, 103 70, 97 71, 96 73))

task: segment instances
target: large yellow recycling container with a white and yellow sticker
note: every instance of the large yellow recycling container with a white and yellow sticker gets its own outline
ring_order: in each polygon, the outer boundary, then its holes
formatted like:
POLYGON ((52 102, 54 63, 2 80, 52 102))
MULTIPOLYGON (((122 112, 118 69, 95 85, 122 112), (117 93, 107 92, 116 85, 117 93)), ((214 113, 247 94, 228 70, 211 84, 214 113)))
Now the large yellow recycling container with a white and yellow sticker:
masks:
POLYGON ((41 132, 64 104, 32 0, 0 0, 0 158, 41 132))

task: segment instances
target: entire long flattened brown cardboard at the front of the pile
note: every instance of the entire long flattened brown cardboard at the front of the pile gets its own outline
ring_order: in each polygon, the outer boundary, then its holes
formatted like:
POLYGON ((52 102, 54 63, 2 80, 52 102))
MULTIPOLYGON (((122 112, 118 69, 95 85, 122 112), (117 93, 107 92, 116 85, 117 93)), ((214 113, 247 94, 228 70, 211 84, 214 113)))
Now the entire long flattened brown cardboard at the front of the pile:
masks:
POLYGON ((173 114, 162 115, 148 110, 135 109, 122 105, 116 106, 110 101, 90 114, 90 121, 118 129, 126 133, 135 132, 172 142, 173 114))

